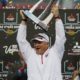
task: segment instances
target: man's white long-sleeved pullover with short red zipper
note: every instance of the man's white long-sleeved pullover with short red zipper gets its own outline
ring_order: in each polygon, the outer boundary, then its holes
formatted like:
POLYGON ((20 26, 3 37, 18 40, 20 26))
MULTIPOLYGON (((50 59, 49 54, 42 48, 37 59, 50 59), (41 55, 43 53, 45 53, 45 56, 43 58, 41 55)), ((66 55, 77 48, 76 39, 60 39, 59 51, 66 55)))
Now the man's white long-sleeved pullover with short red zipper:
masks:
POLYGON ((66 38, 61 19, 56 20, 55 28, 55 44, 41 56, 36 54, 36 51, 26 40, 26 25, 20 24, 17 42, 27 63, 28 80, 62 80, 61 59, 66 38))

